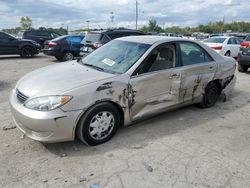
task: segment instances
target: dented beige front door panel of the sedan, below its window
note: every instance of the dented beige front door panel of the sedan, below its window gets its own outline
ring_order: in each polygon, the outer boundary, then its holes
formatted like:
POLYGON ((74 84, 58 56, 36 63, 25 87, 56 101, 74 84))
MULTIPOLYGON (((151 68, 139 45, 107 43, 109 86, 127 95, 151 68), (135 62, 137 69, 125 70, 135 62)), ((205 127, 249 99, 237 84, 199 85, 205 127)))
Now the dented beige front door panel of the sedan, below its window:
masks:
POLYGON ((180 80, 180 68, 170 68, 132 77, 129 92, 131 120, 159 113, 178 104, 180 80))

